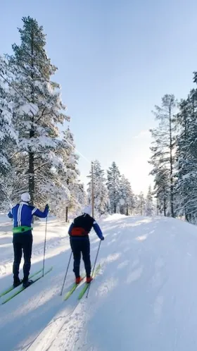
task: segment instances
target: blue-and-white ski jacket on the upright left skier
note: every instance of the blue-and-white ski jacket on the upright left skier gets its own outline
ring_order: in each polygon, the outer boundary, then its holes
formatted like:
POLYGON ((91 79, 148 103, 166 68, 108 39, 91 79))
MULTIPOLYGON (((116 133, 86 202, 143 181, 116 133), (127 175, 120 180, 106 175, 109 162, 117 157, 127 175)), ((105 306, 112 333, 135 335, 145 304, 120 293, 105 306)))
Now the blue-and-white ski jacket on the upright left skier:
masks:
POLYGON ((27 202, 20 202, 20 204, 15 205, 11 211, 8 213, 9 218, 13 218, 13 226, 27 226, 32 225, 33 216, 39 218, 46 218, 49 213, 49 208, 45 207, 44 212, 37 209, 37 207, 30 206, 27 202))

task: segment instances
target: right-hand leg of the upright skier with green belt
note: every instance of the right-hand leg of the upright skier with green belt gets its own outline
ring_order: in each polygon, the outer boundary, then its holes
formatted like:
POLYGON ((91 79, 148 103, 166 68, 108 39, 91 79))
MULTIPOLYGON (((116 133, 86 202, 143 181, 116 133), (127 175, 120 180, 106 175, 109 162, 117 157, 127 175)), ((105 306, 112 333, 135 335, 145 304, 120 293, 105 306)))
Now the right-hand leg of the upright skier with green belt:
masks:
POLYGON ((30 274, 31 268, 31 257, 32 257, 32 234, 23 234, 23 254, 24 254, 24 266, 23 266, 23 281, 27 282, 30 274))

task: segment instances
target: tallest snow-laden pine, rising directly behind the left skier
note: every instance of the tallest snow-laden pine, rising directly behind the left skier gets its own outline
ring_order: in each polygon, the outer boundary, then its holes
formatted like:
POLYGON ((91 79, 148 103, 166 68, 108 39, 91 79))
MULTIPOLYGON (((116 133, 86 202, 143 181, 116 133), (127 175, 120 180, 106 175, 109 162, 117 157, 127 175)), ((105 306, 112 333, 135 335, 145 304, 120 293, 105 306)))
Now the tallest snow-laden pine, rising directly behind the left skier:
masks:
POLYGON ((14 75, 12 86, 17 91, 13 121, 19 133, 13 197, 29 190, 32 202, 40 205, 61 192, 56 172, 62 161, 56 156, 58 124, 68 121, 68 117, 60 87, 51 81, 57 68, 46 55, 43 27, 27 17, 19 32, 21 44, 13 44, 13 55, 8 56, 14 75))

